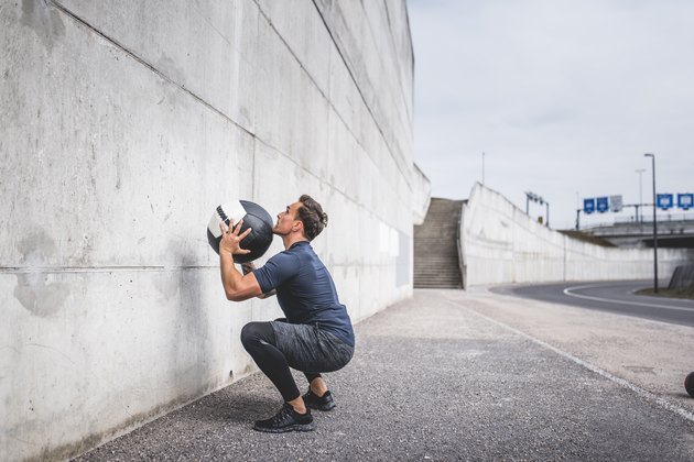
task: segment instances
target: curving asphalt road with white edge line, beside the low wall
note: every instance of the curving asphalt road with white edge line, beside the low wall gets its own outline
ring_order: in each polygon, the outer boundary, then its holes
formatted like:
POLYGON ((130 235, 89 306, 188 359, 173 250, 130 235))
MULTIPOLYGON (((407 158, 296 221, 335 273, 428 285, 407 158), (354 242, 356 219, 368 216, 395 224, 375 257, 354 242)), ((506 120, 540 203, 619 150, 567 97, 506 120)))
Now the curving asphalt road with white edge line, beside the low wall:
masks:
POLYGON ((498 294, 694 327, 694 300, 636 295, 649 280, 560 283, 491 288, 498 294))

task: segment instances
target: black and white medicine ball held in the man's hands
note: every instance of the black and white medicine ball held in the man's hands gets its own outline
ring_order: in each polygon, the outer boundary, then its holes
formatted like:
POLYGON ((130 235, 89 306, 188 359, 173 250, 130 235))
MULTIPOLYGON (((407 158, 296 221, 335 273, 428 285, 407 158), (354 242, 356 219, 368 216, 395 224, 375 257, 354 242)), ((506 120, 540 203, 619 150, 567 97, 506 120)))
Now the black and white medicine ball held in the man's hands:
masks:
POLYGON ((219 222, 224 221, 227 227, 234 227, 240 219, 243 219, 239 234, 251 228, 251 232, 241 240, 241 249, 249 250, 245 255, 234 255, 236 263, 247 263, 260 258, 272 243, 272 217, 258 204, 239 200, 228 205, 219 206, 209 219, 207 226, 207 242, 213 250, 219 253, 219 242, 221 231, 219 222), (234 223, 231 223, 234 219, 234 223))

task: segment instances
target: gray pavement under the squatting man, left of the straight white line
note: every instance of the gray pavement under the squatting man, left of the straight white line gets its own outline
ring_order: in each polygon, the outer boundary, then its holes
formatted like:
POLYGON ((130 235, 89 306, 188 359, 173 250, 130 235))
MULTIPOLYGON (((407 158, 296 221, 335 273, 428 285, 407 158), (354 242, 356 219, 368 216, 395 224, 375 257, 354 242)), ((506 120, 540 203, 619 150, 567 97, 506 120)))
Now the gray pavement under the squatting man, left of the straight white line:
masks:
POLYGON ((533 308, 487 292, 415 290, 357 326, 354 360, 327 374, 338 406, 314 411, 315 432, 253 431, 281 405, 254 374, 78 460, 694 460, 686 407, 677 414, 557 353, 567 345, 533 340, 540 331, 524 334, 539 324, 523 318, 533 308))

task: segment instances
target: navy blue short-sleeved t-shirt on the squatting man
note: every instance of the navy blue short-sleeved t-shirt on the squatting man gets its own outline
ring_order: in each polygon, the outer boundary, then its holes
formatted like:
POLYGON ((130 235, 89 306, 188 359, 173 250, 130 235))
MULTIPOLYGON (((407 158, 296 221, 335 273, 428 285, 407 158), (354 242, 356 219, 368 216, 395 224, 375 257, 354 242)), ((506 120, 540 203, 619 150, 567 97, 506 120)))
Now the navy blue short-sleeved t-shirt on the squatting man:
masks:
POLYGON ((345 343, 355 345, 347 308, 339 302, 327 268, 308 241, 293 243, 253 271, 263 294, 278 290, 278 301, 293 324, 319 324, 345 343))

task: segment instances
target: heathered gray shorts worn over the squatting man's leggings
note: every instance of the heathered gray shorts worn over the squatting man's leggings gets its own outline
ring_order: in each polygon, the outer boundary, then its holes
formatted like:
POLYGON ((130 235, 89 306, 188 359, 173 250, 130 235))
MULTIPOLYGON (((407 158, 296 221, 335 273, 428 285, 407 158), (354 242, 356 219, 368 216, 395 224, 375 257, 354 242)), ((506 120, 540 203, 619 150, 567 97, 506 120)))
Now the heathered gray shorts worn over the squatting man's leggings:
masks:
POLYGON ((347 365, 355 348, 319 326, 271 321, 280 350, 290 367, 307 373, 338 371, 347 365))

